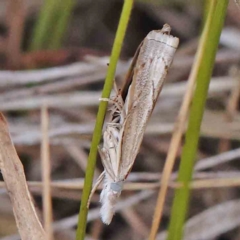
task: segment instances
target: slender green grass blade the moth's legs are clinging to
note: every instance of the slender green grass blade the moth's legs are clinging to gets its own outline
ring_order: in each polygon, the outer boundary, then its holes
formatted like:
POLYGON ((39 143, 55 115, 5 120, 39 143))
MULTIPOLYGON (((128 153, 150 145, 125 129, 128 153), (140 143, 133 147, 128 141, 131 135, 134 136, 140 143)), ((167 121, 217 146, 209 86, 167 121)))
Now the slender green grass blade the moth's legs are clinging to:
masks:
MULTIPOLYGON (((113 87, 113 79, 116 71, 116 65, 120 55, 127 25, 129 22, 132 6, 133 6, 133 0, 124 1, 115 41, 113 44, 110 64, 109 64, 105 84, 103 87, 102 98, 109 98, 112 87, 113 87)), ((98 151, 98 144, 101 140, 102 126, 103 126, 106 110, 107 110, 107 103, 101 101, 98 109, 94 132, 93 132, 90 153, 88 156, 88 164, 87 164, 86 175, 84 180, 76 240, 84 240, 84 236, 85 236, 86 224, 87 224, 87 213, 88 213, 87 202, 88 202, 88 197, 92 188, 93 175, 94 175, 94 169, 96 165, 96 157, 97 157, 97 151, 98 151)))

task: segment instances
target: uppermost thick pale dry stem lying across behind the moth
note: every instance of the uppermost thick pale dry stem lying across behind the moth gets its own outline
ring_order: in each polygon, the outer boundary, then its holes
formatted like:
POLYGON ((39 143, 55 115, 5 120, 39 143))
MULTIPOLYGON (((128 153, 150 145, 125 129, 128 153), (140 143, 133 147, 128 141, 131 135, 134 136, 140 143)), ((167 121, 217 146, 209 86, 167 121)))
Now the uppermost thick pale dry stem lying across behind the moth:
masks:
MULTIPOLYGON (((216 63, 233 63, 239 60, 239 54, 236 52, 222 51, 216 56, 216 63)), ((0 88, 12 87, 12 86, 22 86, 29 83, 44 83, 51 82, 57 79, 63 78, 73 78, 78 76, 85 76, 86 74, 92 74, 96 71, 102 71, 107 69, 107 63, 109 62, 108 57, 98 58, 95 62, 76 62, 73 64, 52 67, 41 70, 27 70, 27 71, 0 71, 0 88)), ((181 69, 186 66, 190 68, 193 62, 193 57, 176 56, 173 62, 173 69, 181 69)), ((117 75, 122 73, 128 62, 119 61, 117 75)), ((81 81, 79 79, 79 81, 81 81)), ((228 84, 227 82, 225 82, 228 84)))

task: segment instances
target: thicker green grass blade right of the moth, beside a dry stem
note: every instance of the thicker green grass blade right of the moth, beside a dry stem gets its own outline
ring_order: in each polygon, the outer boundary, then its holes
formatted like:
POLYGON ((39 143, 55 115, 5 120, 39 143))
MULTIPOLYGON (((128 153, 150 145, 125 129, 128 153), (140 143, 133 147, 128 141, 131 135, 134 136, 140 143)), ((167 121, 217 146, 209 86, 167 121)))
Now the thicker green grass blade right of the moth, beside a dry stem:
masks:
POLYGON ((175 191, 168 240, 182 239, 184 221, 190 197, 190 189, 188 186, 192 178, 208 86, 227 5, 228 0, 211 0, 208 17, 203 29, 195 64, 192 69, 192 74, 196 77, 197 85, 190 108, 188 129, 178 175, 178 182, 183 183, 183 187, 175 191))

